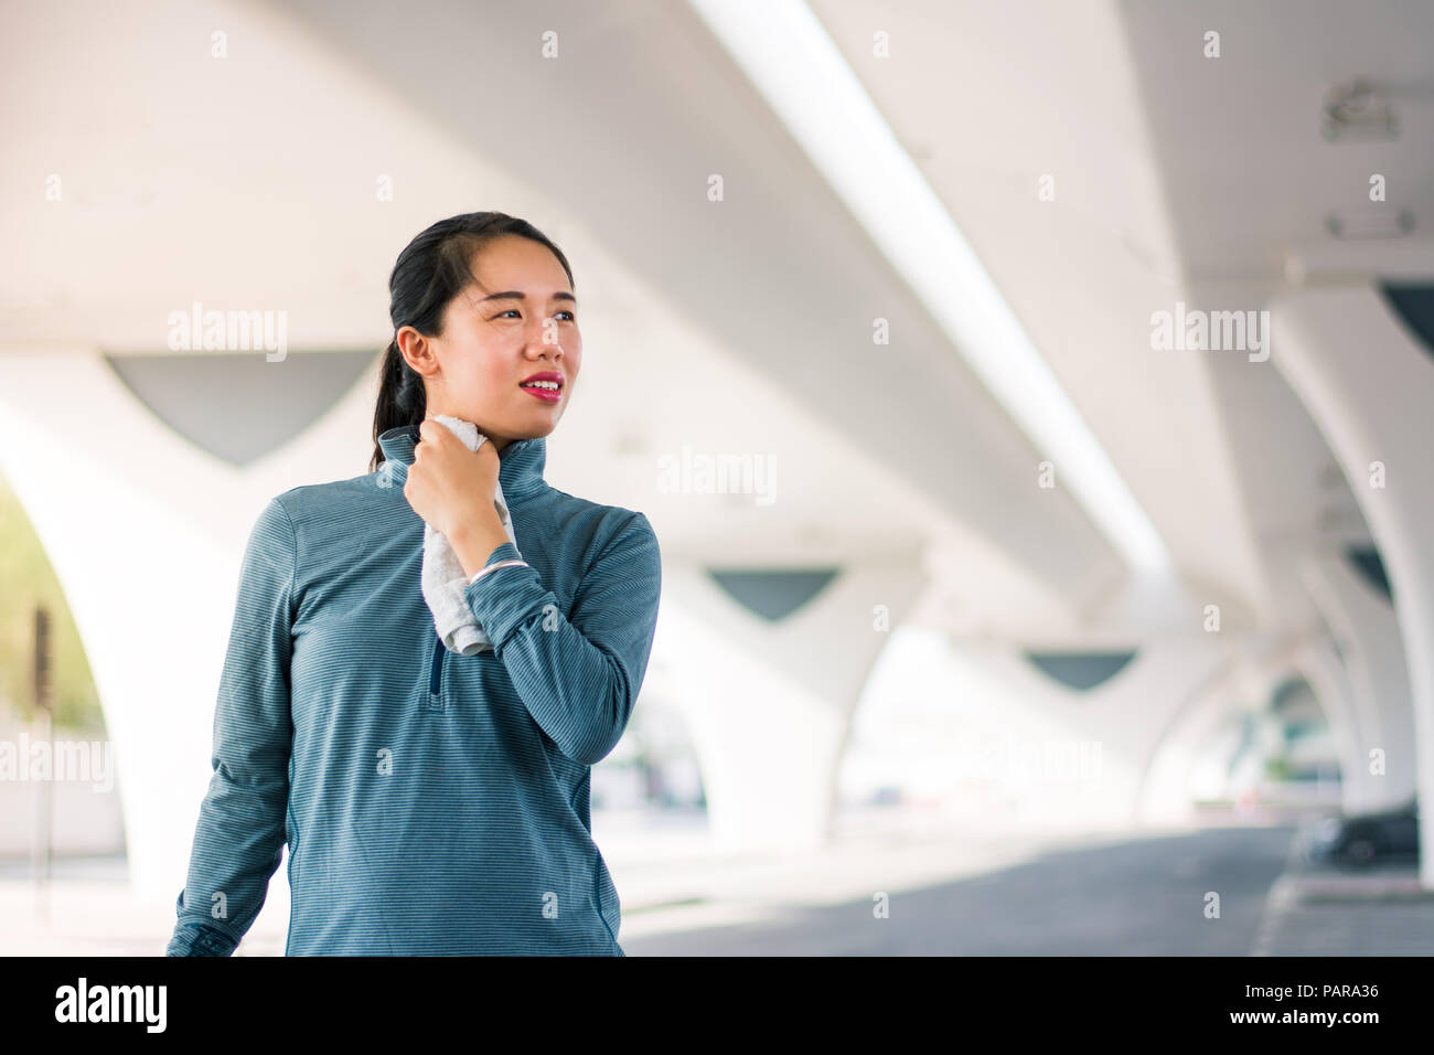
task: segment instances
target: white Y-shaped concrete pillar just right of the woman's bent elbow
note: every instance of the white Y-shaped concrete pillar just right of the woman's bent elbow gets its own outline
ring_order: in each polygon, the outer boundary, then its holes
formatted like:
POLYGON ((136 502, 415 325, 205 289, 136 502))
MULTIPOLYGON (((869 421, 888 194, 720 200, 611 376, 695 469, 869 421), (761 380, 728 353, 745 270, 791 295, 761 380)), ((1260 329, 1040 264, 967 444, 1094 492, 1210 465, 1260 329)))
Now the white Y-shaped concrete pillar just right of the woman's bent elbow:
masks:
POLYGON ((680 686, 716 845, 764 853, 827 840, 852 712, 923 580, 915 555, 847 564, 773 623, 706 568, 664 566, 654 649, 680 686))

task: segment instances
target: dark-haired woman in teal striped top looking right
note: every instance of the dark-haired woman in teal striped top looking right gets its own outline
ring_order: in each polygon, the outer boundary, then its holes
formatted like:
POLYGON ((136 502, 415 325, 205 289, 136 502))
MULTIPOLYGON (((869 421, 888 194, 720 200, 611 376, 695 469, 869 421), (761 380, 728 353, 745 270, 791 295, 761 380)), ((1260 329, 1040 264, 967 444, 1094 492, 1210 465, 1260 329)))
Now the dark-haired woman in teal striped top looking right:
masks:
POLYGON ((231 955, 285 841, 290 956, 624 955, 589 766, 642 685, 661 570, 647 517, 542 477, 582 359, 572 287, 502 212, 399 255, 370 471, 285 491, 248 541, 166 955, 231 955), (469 451, 440 413, 490 442, 469 451), (437 636, 424 522, 490 650, 437 636))

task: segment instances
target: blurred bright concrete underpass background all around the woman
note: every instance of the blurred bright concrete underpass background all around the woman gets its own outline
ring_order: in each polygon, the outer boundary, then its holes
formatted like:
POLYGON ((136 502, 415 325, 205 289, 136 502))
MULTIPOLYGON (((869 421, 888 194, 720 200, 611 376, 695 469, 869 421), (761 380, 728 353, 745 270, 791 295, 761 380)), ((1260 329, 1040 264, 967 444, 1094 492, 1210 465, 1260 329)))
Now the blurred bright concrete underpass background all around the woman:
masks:
POLYGON ((0 953, 163 952, 244 541, 478 210, 582 297, 548 482, 663 548, 628 955, 1431 947, 1434 7, 0 19, 0 953))

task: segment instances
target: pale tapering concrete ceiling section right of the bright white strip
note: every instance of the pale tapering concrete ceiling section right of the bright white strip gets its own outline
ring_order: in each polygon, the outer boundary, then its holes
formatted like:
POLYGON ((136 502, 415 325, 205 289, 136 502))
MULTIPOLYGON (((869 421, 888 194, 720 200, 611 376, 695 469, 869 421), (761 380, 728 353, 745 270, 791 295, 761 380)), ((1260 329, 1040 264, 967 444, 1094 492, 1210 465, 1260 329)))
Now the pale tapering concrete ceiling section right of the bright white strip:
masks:
POLYGON ((913 3, 873 23, 816 4, 1186 578, 1253 606, 1259 555, 1207 365, 1150 343, 1180 287, 1121 16, 1038 7, 913 3), (872 56, 876 23, 892 59, 872 56))

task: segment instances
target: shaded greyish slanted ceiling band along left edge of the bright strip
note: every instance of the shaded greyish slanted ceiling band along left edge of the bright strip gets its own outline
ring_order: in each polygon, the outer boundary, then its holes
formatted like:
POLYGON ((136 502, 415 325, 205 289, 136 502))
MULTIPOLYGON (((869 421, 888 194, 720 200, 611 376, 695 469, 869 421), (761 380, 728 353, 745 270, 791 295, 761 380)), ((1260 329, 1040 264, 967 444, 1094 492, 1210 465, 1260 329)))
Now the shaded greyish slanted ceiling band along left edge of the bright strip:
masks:
MULTIPOLYGON (((495 6, 478 22, 457 17, 466 9, 453 0, 419 0, 404 23, 449 27, 414 44, 422 62, 396 60, 403 37, 381 14, 356 19, 333 0, 285 9, 356 67, 383 66, 387 86, 457 141, 581 215, 651 296, 997 550, 998 567, 1018 566, 1055 607, 1078 611, 1123 577, 1068 494, 1035 487, 1041 455, 685 6, 495 6), (546 29, 559 32, 561 62, 539 55, 546 29), (465 93, 485 105, 455 105, 465 93), (521 106, 509 115, 505 100, 521 106), (720 205, 706 200, 711 172, 724 179, 720 205), (878 316, 896 334, 889 346, 872 344, 878 316)), ((860 514, 827 505, 823 530, 858 530, 860 514)), ((770 528, 746 528, 759 538, 744 530, 744 547, 761 553, 770 528)), ((978 576, 956 589, 979 596, 978 576)))

